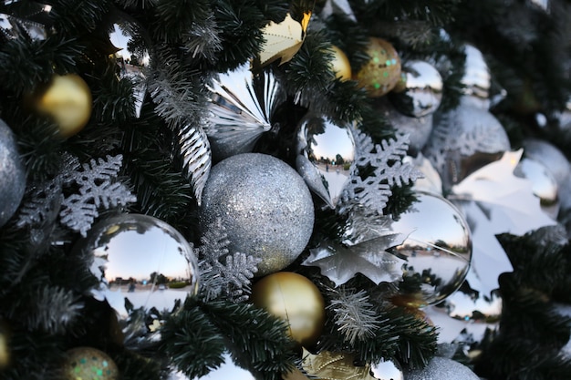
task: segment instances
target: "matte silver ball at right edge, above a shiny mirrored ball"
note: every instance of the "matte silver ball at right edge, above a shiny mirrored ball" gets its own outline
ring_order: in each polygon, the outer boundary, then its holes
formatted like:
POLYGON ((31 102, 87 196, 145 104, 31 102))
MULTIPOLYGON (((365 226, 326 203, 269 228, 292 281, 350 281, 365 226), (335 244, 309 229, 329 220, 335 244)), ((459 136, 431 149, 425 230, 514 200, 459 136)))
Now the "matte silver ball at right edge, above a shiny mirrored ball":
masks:
POLYGON ((571 165, 565 154, 555 145, 541 139, 524 140, 524 156, 542 163, 553 175, 557 186, 562 187, 569 176, 571 165))

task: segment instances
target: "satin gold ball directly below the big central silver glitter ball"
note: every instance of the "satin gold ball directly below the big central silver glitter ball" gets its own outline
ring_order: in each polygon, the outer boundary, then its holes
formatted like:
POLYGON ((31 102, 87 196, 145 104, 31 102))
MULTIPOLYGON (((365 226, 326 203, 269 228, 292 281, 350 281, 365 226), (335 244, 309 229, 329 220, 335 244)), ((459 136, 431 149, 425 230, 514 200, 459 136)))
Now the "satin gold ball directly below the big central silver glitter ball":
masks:
POLYGON ((325 324, 325 301, 317 286, 301 274, 275 272, 252 287, 257 307, 284 320, 291 338, 303 346, 317 343, 325 324))

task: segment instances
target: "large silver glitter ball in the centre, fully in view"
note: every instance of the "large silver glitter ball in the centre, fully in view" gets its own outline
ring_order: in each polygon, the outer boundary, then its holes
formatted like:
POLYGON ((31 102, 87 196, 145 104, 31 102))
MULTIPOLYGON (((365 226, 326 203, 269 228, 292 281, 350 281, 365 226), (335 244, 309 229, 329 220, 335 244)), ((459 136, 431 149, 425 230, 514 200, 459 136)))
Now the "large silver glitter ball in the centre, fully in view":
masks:
POLYGON ((296 170, 261 153, 239 154, 213 167, 199 216, 204 231, 222 222, 230 253, 262 259, 258 276, 294 262, 315 219, 311 194, 296 170))

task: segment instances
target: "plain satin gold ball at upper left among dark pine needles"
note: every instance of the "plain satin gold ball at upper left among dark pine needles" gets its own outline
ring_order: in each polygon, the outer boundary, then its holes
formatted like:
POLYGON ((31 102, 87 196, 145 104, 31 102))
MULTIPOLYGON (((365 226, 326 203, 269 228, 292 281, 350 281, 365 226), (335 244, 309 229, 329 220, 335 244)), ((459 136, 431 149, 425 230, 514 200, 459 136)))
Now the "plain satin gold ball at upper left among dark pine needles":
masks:
POLYGON ((33 107, 55 120, 61 136, 73 136, 88 123, 92 108, 91 90, 78 75, 55 76, 47 87, 39 88, 34 95, 33 107))

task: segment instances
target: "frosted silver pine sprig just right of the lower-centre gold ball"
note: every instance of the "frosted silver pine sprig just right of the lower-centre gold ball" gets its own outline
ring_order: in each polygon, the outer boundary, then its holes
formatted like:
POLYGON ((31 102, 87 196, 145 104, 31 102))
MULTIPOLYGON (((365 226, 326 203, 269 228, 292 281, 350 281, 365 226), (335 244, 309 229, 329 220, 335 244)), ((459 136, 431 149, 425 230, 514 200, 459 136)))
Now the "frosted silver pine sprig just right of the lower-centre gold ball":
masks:
POLYGON ((357 293, 340 287, 331 292, 331 303, 327 306, 333 311, 337 331, 349 344, 365 341, 375 335, 380 321, 373 304, 369 303, 369 294, 364 290, 357 293))

